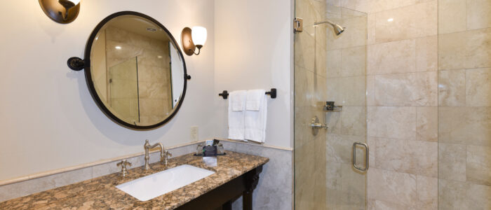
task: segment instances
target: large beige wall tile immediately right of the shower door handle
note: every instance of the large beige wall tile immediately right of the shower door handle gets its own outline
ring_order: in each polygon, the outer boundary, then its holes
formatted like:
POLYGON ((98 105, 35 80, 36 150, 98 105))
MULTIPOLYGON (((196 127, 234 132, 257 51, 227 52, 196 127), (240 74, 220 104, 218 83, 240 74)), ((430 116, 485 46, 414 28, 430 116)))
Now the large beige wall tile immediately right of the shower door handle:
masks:
POLYGON ((438 143, 377 139, 375 160, 378 169, 422 176, 438 176, 438 143))

